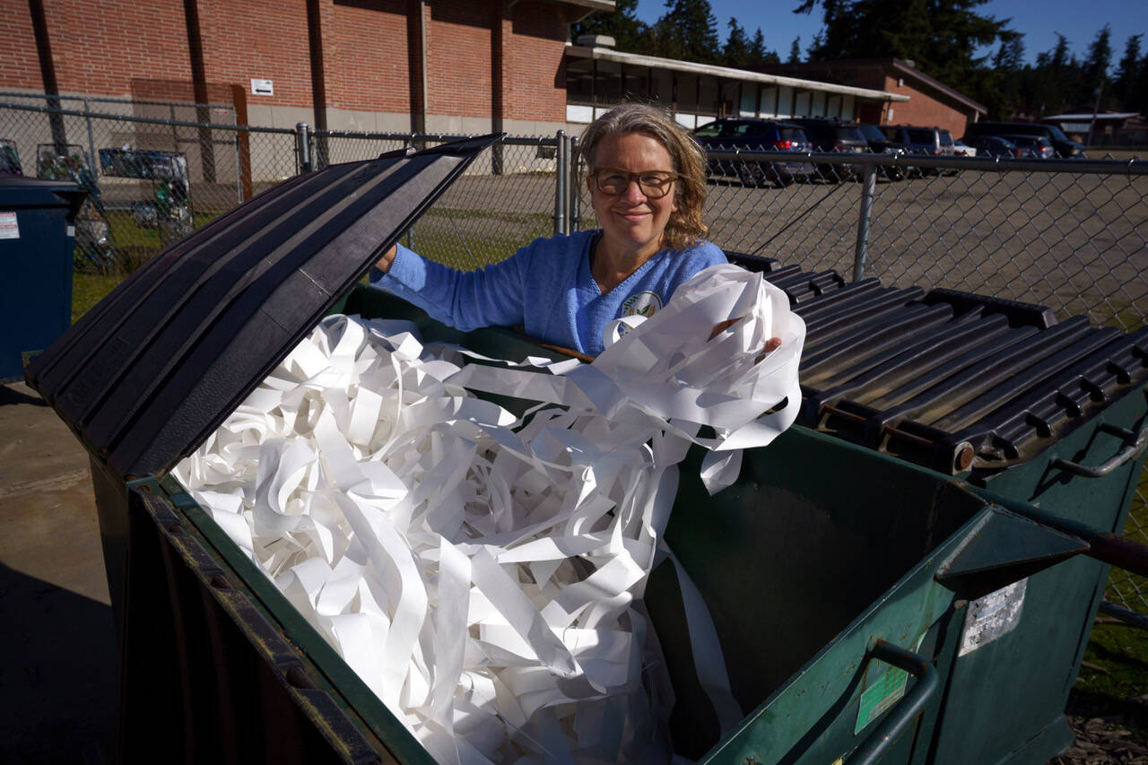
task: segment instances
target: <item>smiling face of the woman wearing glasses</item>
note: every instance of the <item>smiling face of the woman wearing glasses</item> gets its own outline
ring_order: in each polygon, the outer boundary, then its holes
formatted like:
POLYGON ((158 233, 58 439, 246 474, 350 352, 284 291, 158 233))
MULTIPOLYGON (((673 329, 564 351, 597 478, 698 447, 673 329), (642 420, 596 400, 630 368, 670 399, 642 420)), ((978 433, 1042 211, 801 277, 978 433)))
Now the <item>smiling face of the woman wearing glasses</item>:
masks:
MULTIPOLYGON (((673 172, 674 161, 661 142, 645 133, 604 137, 594 152, 595 168, 615 168, 627 172, 665 170, 673 172)), ((672 212, 677 210, 677 193, 670 188, 661 199, 651 199, 631 180, 622 194, 602 192, 587 178, 594 211, 602 224, 603 245, 615 257, 643 260, 661 249, 661 237, 672 212)))

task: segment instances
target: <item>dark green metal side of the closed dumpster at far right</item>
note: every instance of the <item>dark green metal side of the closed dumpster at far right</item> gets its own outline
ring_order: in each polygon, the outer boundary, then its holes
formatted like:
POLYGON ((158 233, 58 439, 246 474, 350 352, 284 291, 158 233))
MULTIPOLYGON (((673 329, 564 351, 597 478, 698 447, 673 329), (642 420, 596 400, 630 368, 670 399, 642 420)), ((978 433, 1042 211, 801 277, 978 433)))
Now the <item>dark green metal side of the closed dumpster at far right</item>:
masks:
MULTIPOLYGON (((1069 476, 1052 463, 1057 457, 1087 465, 1104 462, 1122 440, 1101 425, 1139 428, 1146 409, 1143 393, 1127 395, 1040 459, 984 484, 995 494, 1119 534, 1143 458, 1096 479, 1069 476)), ((1109 566, 1081 557, 1029 578, 1017 626, 956 660, 934 762, 1045 763, 1071 744, 1064 708, 1108 572, 1109 566)))

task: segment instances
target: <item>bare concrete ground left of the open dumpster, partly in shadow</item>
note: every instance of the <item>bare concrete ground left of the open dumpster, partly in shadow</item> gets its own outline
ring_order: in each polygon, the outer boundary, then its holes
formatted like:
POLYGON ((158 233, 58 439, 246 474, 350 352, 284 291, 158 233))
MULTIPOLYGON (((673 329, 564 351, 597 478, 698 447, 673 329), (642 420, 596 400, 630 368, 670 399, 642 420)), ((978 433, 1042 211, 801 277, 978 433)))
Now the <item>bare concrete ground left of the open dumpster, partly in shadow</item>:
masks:
POLYGON ((87 453, 0 386, 0 763, 110 762, 116 636, 87 453))

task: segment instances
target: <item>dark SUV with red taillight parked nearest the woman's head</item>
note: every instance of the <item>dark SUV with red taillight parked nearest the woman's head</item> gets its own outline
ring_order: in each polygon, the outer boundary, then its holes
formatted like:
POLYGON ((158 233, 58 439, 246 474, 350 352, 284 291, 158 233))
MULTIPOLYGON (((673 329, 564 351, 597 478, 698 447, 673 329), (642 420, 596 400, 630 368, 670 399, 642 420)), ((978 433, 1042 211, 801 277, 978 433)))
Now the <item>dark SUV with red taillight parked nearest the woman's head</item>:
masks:
POLYGON ((791 122, 758 117, 723 117, 695 130, 693 138, 707 152, 776 152, 783 155, 769 162, 734 160, 707 162, 711 175, 732 175, 745 186, 765 186, 768 181, 784 186, 794 179, 808 178, 814 171, 813 164, 804 159, 784 156, 813 150, 813 145, 801 126, 791 122))

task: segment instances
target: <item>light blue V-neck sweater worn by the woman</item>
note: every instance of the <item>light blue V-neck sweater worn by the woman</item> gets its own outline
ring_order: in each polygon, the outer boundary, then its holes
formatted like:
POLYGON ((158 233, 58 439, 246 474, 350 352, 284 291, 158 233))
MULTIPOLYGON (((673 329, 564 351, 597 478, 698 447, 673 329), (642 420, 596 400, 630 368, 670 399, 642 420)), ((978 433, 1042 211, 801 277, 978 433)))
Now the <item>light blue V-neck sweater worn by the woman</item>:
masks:
POLYGON ((371 270, 371 284, 459 330, 518 326, 543 342, 602 353, 602 332, 621 316, 650 316, 677 285, 704 268, 726 263, 716 246, 664 249, 620 285, 602 294, 590 275, 597 231, 536 239, 511 257, 463 273, 398 246, 390 270, 371 270))

